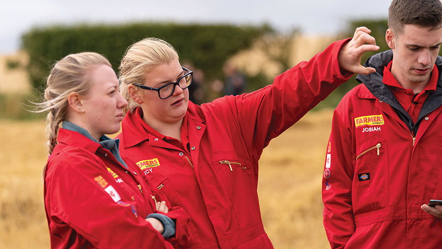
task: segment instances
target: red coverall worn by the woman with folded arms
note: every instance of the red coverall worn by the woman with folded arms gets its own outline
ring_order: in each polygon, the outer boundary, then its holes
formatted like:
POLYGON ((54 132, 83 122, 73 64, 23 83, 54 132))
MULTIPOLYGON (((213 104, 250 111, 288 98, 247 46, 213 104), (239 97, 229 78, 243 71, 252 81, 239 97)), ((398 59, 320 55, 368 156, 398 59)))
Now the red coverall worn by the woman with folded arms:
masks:
POLYGON ((144 220, 156 212, 152 196, 167 200, 133 162, 125 160, 126 169, 109 150, 78 132, 59 129, 57 141, 44 184, 52 248, 173 248, 187 243, 189 218, 182 208, 165 214, 176 222, 175 237, 168 241, 144 220))

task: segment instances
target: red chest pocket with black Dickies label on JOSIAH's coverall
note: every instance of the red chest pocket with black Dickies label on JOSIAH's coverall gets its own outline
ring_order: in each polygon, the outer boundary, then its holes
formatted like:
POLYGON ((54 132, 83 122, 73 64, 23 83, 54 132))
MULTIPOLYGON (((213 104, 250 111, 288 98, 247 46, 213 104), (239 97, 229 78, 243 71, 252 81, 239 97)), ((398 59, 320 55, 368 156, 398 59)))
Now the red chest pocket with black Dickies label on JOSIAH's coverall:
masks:
POLYGON ((352 200, 355 214, 366 213, 388 205, 387 141, 373 136, 357 146, 352 200))

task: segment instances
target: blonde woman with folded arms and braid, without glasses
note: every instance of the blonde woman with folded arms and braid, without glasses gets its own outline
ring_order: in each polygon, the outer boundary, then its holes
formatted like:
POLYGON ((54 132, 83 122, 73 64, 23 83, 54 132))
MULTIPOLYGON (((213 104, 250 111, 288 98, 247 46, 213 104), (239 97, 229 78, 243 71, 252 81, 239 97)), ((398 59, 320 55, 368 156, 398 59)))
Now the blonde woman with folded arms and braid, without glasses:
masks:
POLYGON ((118 152, 126 100, 107 58, 67 55, 47 79, 49 159, 44 199, 52 248, 172 248, 188 217, 118 152), (59 125, 61 124, 61 128, 59 125), (161 201, 161 202, 160 202, 161 201), (166 241, 165 239, 169 239, 166 241))

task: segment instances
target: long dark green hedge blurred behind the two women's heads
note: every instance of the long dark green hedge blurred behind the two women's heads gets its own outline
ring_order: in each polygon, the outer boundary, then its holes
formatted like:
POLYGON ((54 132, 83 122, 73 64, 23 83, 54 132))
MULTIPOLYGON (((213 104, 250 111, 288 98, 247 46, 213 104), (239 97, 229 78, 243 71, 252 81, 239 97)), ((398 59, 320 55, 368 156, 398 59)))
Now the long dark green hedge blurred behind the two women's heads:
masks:
POLYGON ((32 86, 41 89, 52 64, 63 56, 83 51, 106 55, 115 71, 127 47, 145 37, 166 40, 182 61, 201 68, 206 79, 222 79, 222 64, 231 55, 248 48, 258 36, 272 31, 268 25, 181 25, 135 23, 125 25, 77 25, 32 28, 22 36, 28 52, 32 86))

